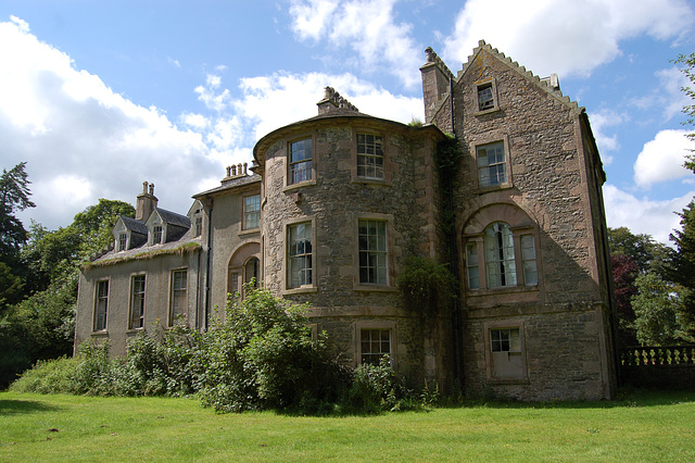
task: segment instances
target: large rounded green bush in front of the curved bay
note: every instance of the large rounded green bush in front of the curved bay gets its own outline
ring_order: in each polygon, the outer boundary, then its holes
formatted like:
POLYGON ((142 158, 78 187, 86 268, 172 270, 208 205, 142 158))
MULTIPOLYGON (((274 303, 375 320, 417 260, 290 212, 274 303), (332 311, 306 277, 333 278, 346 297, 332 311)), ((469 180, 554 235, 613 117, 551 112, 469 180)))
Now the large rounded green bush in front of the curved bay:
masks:
POLYGON ((233 301, 224 323, 206 335, 200 400, 219 412, 323 409, 336 400, 340 368, 328 359, 325 335, 312 339, 305 305, 265 289, 233 301))

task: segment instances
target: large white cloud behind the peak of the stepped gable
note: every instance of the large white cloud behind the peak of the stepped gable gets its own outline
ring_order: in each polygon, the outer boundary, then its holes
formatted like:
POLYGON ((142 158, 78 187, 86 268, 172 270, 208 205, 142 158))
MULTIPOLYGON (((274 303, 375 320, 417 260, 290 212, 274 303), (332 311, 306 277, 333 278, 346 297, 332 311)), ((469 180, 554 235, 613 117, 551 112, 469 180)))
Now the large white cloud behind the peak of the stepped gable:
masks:
POLYGON ((678 40, 694 23, 686 0, 468 0, 442 55, 466 62, 483 39, 539 75, 589 75, 621 53, 620 40, 678 40))

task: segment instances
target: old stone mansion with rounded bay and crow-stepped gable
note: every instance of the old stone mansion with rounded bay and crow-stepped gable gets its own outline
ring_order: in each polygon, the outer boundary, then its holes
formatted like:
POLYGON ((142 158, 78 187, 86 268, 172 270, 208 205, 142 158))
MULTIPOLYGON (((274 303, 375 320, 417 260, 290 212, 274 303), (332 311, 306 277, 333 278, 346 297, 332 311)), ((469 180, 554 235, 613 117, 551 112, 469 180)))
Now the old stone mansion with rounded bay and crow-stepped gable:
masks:
MULTIPOLYGON (((522 400, 610 398, 614 303, 596 142, 557 76, 484 41, 452 73, 428 48, 426 121, 361 113, 330 87, 318 115, 261 138, 188 213, 154 186, 79 279, 76 346, 160 325, 207 329, 256 280, 308 302, 352 365, 389 354, 415 384, 522 400), (459 155, 441 166, 451 137, 459 155), (396 284, 409 256, 445 264, 458 297, 434 320, 396 284)), ((241 295, 243 297, 243 295, 241 295)))

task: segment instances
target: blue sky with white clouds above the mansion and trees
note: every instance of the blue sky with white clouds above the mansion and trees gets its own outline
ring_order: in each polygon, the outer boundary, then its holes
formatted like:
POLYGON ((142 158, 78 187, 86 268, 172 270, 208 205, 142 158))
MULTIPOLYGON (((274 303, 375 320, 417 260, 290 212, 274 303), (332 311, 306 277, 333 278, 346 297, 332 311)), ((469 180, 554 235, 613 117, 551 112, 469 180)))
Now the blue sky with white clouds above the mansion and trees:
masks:
POLYGON ((481 39, 558 74, 592 124, 608 226, 668 243, 695 196, 672 63, 695 51, 690 0, 2 0, 0 167, 27 163, 27 227, 135 203, 143 182, 186 213, 263 135, 316 115, 325 86, 424 120, 425 49, 456 73, 481 39))

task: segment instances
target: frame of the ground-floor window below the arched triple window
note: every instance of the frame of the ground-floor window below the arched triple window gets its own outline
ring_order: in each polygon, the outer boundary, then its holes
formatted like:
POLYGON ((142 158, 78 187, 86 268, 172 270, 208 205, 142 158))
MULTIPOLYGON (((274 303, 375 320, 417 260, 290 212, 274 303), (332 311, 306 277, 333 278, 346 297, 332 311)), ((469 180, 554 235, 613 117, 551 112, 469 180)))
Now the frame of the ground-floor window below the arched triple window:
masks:
POLYGON ((494 322, 485 322, 482 325, 483 329, 483 338, 485 346, 485 373, 488 381, 491 384, 503 384, 503 385, 515 385, 515 384, 529 384, 529 368, 528 368, 528 352, 526 347, 526 330, 525 324, 522 320, 504 320, 504 321, 494 321, 494 322), (508 350, 508 351, 493 351, 493 330, 513 330, 518 329, 519 331, 519 346, 518 350, 508 350), (519 356, 519 376, 500 376, 496 373, 495 362, 497 361, 497 355, 500 358, 504 358, 503 352, 507 352, 507 359, 514 354, 515 356, 519 356), (500 355, 501 354, 501 355, 500 355))

